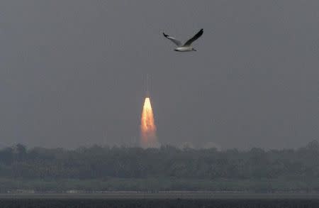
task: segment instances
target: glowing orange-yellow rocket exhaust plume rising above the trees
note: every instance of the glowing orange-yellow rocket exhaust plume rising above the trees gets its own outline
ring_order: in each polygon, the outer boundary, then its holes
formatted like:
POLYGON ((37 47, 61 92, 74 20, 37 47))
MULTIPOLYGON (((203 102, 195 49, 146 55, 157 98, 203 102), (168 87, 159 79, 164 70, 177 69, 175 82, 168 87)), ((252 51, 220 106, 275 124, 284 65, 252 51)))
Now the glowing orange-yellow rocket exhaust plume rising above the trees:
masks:
POLYGON ((140 145, 142 148, 159 147, 150 97, 145 97, 142 117, 140 119, 140 145))

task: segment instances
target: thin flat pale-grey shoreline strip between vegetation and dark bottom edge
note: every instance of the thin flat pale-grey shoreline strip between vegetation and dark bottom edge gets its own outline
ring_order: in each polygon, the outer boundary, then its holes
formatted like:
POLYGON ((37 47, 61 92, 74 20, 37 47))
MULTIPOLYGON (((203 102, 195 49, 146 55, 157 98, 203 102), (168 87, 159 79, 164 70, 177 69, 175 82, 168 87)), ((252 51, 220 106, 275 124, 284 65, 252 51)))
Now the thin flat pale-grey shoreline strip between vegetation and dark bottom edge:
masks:
POLYGON ((319 199, 319 193, 234 193, 234 192, 103 192, 103 193, 16 193, 0 199, 319 199))

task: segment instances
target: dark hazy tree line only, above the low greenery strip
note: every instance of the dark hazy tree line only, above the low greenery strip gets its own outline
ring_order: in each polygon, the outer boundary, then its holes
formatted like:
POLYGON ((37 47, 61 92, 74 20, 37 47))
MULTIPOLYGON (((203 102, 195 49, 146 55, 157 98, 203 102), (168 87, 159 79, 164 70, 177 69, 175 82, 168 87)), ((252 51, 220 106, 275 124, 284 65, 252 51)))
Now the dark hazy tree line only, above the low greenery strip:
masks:
POLYGON ((319 144, 298 149, 217 150, 101 147, 0 150, 0 177, 23 180, 184 178, 184 179, 319 179, 319 144))

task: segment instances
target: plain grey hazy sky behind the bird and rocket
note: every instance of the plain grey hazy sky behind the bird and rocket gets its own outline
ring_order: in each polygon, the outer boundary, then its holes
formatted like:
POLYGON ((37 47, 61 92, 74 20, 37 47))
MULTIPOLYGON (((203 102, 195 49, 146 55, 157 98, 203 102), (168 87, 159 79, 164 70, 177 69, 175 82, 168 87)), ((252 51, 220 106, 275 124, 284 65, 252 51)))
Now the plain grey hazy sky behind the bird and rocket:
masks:
POLYGON ((319 138, 319 1, 1 1, 0 146, 139 137, 293 148, 319 138), (176 53, 162 32, 198 52, 176 53))

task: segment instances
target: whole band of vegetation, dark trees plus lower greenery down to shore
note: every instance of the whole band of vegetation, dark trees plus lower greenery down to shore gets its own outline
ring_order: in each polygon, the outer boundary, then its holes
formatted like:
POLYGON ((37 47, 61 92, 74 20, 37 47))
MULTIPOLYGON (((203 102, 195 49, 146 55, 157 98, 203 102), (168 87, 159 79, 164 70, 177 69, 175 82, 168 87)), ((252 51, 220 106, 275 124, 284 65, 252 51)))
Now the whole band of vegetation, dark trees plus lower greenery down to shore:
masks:
POLYGON ((265 190, 319 190, 319 144, 267 151, 172 146, 28 150, 18 144, 0 150, 0 182, 2 189, 40 189, 39 183, 47 182, 49 190, 59 185, 86 190, 250 190, 252 184, 265 190))

